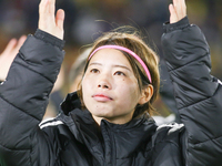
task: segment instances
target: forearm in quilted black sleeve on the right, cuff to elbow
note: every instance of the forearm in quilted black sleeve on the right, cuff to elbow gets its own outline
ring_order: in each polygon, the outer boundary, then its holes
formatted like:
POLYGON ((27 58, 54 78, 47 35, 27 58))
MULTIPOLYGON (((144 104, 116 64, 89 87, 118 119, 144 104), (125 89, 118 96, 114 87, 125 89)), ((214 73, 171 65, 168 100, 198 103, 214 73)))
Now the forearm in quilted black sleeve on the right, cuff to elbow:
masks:
POLYGON ((218 83, 210 74, 210 49, 201 30, 185 18, 178 25, 165 27, 162 44, 171 79, 181 87, 175 96, 180 100, 178 107, 212 96, 218 83))

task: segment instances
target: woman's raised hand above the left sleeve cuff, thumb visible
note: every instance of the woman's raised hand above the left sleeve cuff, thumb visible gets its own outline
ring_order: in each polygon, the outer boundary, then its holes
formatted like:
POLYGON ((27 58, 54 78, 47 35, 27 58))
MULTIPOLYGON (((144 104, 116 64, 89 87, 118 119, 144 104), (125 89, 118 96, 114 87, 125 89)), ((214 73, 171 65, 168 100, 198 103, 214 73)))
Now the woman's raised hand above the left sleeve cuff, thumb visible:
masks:
POLYGON ((39 4, 39 29, 63 40, 64 11, 56 12, 56 0, 41 0, 39 4))

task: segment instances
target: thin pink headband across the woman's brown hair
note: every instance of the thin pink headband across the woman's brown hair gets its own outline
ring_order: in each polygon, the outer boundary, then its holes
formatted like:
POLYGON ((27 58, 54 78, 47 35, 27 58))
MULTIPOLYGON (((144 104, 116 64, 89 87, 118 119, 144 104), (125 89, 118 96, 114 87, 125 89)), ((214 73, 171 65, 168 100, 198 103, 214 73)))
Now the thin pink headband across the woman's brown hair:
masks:
POLYGON ((124 48, 124 46, 120 46, 120 45, 102 45, 102 46, 99 46, 98 49, 95 49, 89 56, 89 60, 92 58, 92 55, 98 52, 99 50, 101 49, 117 49, 117 50, 121 50, 121 51, 124 51, 129 54, 131 54, 135 60, 138 60, 138 62, 140 62, 140 64, 142 65, 142 68, 144 69, 147 75, 148 75, 148 79, 150 81, 150 83, 152 83, 152 80, 151 80, 151 75, 150 75, 150 71, 148 70, 148 66, 145 65, 145 63, 140 59, 139 55, 137 55, 133 51, 124 48))

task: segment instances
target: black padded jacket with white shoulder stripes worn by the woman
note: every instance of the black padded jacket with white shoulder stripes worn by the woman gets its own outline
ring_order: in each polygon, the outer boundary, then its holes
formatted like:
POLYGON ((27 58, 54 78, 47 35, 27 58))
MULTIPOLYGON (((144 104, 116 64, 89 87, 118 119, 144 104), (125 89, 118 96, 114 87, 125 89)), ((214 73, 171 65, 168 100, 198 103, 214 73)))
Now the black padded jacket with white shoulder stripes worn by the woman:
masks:
POLYGON ((164 27, 167 65, 183 124, 157 126, 149 115, 99 126, 77 93, 42 122, 63 42, 29 35, 0 85, 1 166, 221 166, 222 85, 210 75, 205 39, 188 18, 164 27))

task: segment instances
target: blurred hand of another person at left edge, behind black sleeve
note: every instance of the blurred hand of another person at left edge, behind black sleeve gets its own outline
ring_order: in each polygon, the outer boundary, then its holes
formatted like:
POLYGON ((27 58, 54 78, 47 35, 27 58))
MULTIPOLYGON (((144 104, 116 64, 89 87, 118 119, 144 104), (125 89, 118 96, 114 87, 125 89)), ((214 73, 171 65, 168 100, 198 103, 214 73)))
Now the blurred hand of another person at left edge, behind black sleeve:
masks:
POLYGON ((11 63, 26 39, 26 35, 22 35, 19 40, 11 39, 4 51, 0 54, 0 81, 6 80, 11 63))

